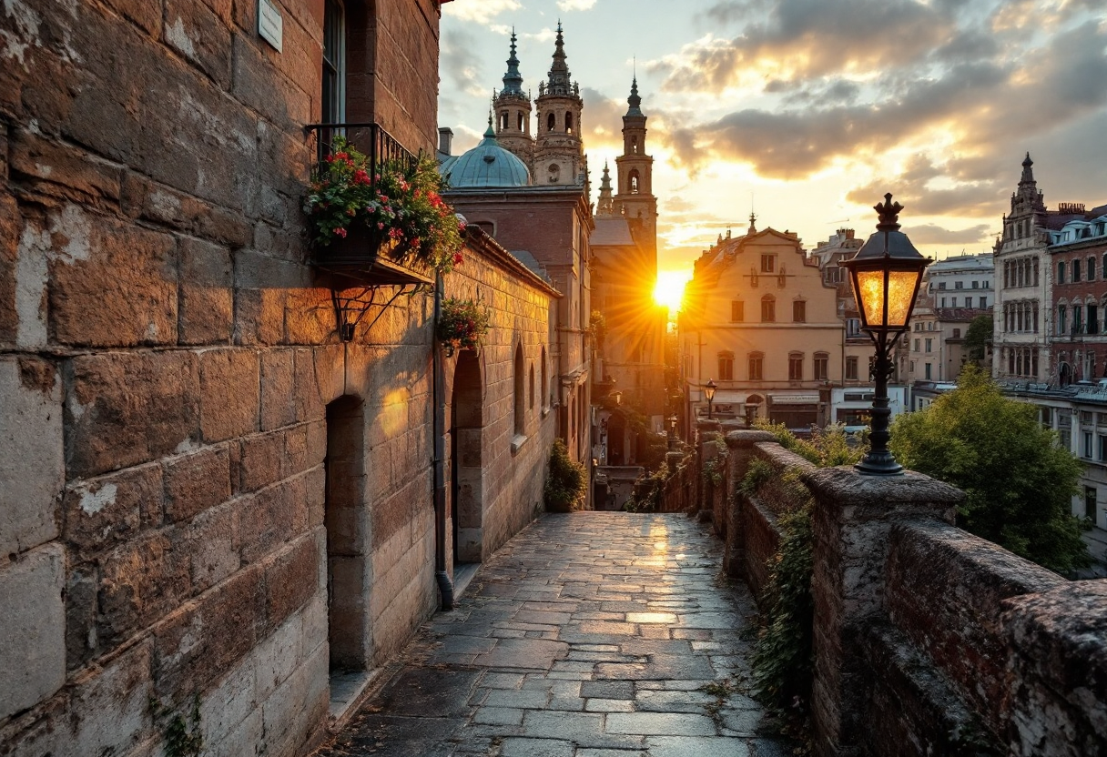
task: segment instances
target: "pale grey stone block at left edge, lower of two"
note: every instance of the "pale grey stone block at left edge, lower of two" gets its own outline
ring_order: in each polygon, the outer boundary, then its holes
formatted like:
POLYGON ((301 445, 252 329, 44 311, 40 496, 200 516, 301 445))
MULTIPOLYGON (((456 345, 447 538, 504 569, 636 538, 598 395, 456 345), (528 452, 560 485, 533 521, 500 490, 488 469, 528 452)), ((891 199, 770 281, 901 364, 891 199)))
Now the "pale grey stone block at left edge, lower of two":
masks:
POLYGON ((0 722, 65 683, 65 554, 45 545, 0 568, 0 722))

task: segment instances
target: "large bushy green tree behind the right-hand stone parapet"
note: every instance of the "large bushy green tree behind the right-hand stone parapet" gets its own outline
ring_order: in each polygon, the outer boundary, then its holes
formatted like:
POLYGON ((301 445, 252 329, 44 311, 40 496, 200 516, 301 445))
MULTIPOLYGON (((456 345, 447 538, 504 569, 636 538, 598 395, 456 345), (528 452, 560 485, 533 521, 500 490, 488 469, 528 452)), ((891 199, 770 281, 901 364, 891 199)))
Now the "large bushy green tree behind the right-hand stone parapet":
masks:
POLYGON ((890 447, 908 468, 968 496, 958 525, 1057 572, 1089 564, 1072 515, 1082 465, 1037 422, 1033 405, 1007 400, 975 365, 959 386, 892 423, 890 447))

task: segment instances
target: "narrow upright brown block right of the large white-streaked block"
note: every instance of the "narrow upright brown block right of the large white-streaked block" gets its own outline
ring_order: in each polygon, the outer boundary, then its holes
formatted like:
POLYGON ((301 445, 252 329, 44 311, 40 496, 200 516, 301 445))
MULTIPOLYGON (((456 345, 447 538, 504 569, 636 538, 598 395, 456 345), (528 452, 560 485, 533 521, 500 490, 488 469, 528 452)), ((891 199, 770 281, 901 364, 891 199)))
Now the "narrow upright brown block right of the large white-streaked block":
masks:
POLYGON ((234 333, 235 283, 230 252, 225 247, 180 239, 180 342, 219 344, 234 333))

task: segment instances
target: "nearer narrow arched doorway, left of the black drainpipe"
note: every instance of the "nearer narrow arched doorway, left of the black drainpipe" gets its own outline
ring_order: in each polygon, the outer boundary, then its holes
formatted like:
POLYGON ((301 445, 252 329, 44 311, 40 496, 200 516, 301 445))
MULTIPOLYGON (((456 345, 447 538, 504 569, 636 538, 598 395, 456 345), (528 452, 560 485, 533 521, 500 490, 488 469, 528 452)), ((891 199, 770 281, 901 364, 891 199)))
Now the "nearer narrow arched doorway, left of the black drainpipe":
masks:
POLYGON ((358 397, 342 396, 327 406, 325 476, 327 620, 333 681, 368 670, 373 653, 365 406, 358 397))

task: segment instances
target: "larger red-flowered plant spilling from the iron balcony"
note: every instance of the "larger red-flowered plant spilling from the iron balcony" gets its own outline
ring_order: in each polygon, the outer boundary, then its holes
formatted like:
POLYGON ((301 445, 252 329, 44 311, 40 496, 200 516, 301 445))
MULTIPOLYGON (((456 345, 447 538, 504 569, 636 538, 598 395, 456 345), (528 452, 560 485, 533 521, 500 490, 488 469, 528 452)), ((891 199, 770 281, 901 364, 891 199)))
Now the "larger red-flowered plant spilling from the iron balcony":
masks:
POLYGON ((331 154, 311 177, 304 211, 317 249, 363 235, 389 245, 400 262, 421 262, 447 272, 462 263, 465 222, 439 195, 442 177, 434 159, 369 158, 335 136, 331 154))

